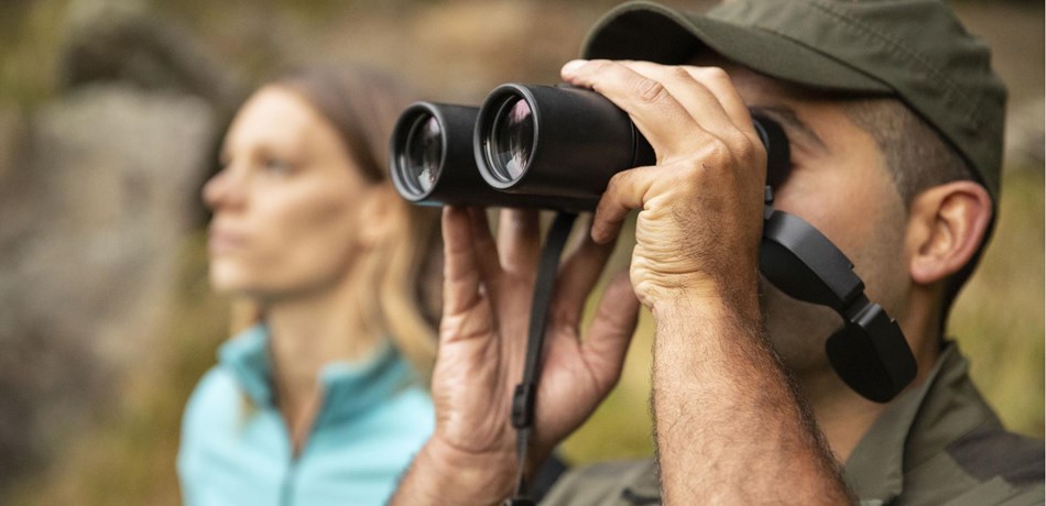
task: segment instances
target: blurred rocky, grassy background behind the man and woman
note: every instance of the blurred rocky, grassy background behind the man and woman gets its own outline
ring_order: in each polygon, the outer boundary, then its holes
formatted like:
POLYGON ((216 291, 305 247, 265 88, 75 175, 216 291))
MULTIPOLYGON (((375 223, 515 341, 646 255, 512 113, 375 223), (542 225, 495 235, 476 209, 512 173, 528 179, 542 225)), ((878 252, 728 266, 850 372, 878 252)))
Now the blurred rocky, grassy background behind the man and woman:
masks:
MULTIPOLYGON (((199 188, 254 86, 362 62, 478 103, 556 82, 615 3, 0 0, 0 504, 178 504, 182 408, 228 330, 199 188)), ((999 227, 949 334, 1006 425, 1042 438, 1044 7, 954 6, 1011 100, 999 227)), ((651 329, 569 461, 651 454, 651 329)))

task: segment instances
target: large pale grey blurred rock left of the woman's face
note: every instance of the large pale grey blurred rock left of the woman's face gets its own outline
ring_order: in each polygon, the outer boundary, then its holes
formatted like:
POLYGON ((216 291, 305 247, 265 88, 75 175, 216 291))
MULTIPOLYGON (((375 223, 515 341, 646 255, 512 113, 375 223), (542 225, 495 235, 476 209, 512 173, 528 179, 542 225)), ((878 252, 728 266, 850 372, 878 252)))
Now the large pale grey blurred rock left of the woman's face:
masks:
POLYGON ((110 84, 30 119, 0 186, 0 480, 148 363, 214 118, 196 97, 110 84))

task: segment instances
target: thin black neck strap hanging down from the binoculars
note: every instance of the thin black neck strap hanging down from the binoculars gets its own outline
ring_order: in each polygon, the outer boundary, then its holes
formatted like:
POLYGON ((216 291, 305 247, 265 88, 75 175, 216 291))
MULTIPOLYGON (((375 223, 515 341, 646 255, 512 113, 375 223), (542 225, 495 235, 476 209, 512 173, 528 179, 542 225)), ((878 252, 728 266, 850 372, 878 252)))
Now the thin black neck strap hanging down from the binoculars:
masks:
POLYGON ((534 502, 526 496, 526 450, 534 426, 534 400, 537 397, 537 378, 541 375, 542 349, 545 344, 545 322, 548 305, 556 287, 559 256, 567 243, 577 215, 560 212, 548 230, 542 246, 534 280, 534 299, 531 305, 531 321, 526 338, 526 359, 523 364, 523 381, 515 386, 512 396, 512 427, 515 428, 515 452, 519 459, 515 493, 505 501, 505 506, 530 506, 534 502))

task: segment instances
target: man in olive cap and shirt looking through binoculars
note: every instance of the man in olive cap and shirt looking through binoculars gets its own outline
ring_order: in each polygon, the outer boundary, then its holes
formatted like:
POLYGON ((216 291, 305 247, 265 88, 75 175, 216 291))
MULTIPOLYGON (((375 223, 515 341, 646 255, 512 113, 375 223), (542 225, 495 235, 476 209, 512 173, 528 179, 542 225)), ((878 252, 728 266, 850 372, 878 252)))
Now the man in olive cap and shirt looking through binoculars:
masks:
MULTIPOLYGON (((657 462, 582 470, 552 504, 1031 504, 1043 446, 1010 435, 943 336, 998 205, 1005 90, 940 2, 734 0, 706 16, 624 6, 563 78, 630 114, 657 163, 617 175, 552 300, 532 454, 577 428, 620 373, 634 293, 656 322, 657 462), (612 58, 596 59, 596 58, 612 58), (897 319, 917 376, 875 404, 825 356, 838 317, 761 283, 765 152, 775 208, 820 230, 897 319), (584 339, 585 296, 639 209, 629 278, 584 339), (765 323, 764 323, 765 321, 765 323)), ((492 504, 516 471, 508 421, 537 257, 536 217, 448 209, 437 429, 396 504, 492 504)))

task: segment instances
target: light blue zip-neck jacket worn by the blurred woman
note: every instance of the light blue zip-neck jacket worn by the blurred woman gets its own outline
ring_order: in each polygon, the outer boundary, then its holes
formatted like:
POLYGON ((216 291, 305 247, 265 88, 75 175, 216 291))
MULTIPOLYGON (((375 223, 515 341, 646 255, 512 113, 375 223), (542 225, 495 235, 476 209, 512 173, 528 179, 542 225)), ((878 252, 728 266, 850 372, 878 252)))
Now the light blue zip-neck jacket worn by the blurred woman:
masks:
POLYGON ((411 366, 383 344, 363 363, 324 367, 323 406, 295 458, 274 405, 268 342, 255 326, 225 343, 189 398, 178 451, 185 504, 384 504, 434 426, 411 366))

